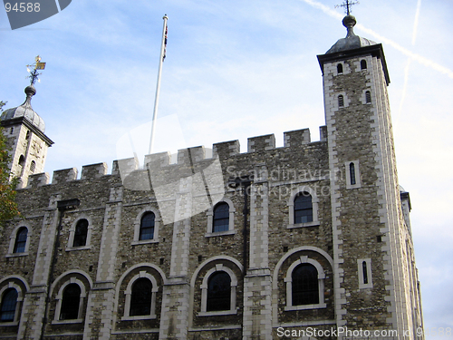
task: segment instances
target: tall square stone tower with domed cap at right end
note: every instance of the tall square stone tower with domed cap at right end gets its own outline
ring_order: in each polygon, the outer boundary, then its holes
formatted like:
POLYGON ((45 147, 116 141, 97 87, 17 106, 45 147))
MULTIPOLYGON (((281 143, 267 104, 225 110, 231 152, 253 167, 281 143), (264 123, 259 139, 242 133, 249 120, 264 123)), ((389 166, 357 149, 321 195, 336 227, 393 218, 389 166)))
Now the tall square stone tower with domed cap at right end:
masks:
MULTIPOLYGON (((422 327, 410 226, 401 209, 381 44, 353 33, 318 60, 323 71, 332 189, 333 272, 337 327, 422 327)), ((406 193, 407 194, 407 193, 406 193)))

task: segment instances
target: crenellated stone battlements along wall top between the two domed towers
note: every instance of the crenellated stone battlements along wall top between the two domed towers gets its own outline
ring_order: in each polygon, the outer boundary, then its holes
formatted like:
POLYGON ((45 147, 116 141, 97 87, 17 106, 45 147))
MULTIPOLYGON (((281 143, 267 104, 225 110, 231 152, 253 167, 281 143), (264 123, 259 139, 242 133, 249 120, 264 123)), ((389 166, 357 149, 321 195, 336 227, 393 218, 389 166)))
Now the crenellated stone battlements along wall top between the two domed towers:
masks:
MULTIPOLYGON (((326 126, 320 127, 320 141, 327 141, 326 126)), ((301 148, 312 143, 310 129, 301 129, 284 132, 283 148, 301 148)), ((263 136, 250 137, 247 139, 246 153, 266 152, 280 148, 275 148, 275 135, 266 134, 263 136)), ((236 156, 244 155, 240 152, 239 141, 222 141, 213 144, 212 158, 207 158, 207 151, 204 146, 197 146, 178 150, 176 163, 171 163, 171 153, 169 151, 145 155, 144 166, 140 169, 140 161, 137 158, 123 160, 113 160, 111 174, 108 173, 108 166, 105 162, 84 165, 80 180, 97 180, 104 176, 121 176, 128 181, 138 180, 138 177, 145 176, 143 169, 152 167, 153 169, 168 167, 188 167, 203 160, 227 160, 236 156), (131 176, 130 176, 131 175, 131 176)), ((176 168, 175 168, 176 169, 176 168)), ((48 184, 61 184, 72 180, 78 180, 78 170, 69 168, 53 171, 53 180, 50 183, 48 173, 38 173, 31 175, 26 188, 38 188, 48 184)), ((133 186, 132 186, 133 187, 133 186)))

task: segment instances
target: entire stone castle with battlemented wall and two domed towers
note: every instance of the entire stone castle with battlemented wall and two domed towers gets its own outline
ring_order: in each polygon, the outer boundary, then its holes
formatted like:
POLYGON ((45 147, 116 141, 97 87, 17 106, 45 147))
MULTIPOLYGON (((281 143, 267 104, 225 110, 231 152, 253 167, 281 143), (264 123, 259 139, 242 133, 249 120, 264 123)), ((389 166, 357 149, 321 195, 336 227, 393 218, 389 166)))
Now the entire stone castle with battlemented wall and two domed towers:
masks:
POLYGON ((50 183, 53 141, 27 87, 1 121, 22 215, 0 239, 0 337, 419 338, 385 57, 352 15, 343 24, 346 38, 318 55, 320 141, 288 131, 280 148, 271 134, 242 153, 226 141, 210 158, 188 148, 176 164, 164 152, 50 183))

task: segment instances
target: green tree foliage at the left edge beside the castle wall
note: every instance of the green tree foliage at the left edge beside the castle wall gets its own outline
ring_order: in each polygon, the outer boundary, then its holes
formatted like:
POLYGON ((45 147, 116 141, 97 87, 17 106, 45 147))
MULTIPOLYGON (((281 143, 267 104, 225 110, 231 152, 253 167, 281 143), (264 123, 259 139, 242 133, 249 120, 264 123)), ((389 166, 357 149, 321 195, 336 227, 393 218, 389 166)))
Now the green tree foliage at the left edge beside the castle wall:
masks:
MULTIPOLYGON (((5 102, 0 102, 0 114, 3 112, 4 105, 5 102)), ((5 134, 0 127, 0 227, 6 219, 13 219, 14 216, 19 215, 14 201, 17 179, 10 181, 9 160, 5 134)))

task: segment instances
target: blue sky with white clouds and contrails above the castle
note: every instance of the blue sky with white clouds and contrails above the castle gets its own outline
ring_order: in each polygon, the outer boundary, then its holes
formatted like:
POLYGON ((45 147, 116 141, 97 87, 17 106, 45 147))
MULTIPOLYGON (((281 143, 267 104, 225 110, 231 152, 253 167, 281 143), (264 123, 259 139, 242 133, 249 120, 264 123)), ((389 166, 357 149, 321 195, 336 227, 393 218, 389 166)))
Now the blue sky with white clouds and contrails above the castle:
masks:
MULTIPOLYGON (((119 158, 120 137, 152 117, 162 16, 169 15, 154 151, 324 124, 316 54, 344 37, 341 0, 72 0, 11 31, 0 11, 0 100, 24 102, 25 65, 47 63, 33 107, 55 141, 46 171, 119 158), (174 121, 169 119, 169 121, 174 121), (165 136, 177 133, 169 146, 165 136), (159 137, 160 136, 160 137, 159 137), (161 142, 159 142, 161 141, 161 142)), ((384 46, 400 185, 411 223, 427 330, 453 327, 453 3, 362 0, 355 33, 384 46)), ((148 136, 143 137, 149 139, 148 136)), ((446 338, 446 336, 444 336, 446 338)))

